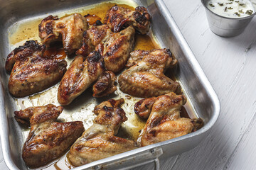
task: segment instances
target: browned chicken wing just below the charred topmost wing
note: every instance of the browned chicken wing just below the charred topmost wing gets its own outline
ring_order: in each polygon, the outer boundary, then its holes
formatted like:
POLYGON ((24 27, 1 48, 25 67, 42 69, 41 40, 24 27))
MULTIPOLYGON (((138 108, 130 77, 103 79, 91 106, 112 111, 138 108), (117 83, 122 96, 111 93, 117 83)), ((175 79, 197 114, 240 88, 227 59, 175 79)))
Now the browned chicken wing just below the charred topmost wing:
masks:
POLYGON ((119 72, 127 63, 134 47, 134 34, 132 26, 119 33, 112 33, 107 25, 99 23, 85 32, 82 47, 76 54, 86 57, 92 50, 96 50, 103 56, 107 70, 119 72))

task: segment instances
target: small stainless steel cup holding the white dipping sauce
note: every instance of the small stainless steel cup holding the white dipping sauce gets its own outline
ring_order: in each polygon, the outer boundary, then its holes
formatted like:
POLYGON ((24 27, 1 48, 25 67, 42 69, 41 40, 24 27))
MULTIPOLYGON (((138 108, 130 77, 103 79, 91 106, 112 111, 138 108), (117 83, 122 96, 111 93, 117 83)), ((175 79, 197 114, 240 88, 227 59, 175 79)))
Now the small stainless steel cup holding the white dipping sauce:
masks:
MULTIPOLYGON (((203 6, 206 8, 206 16, 208 18, 210 30, 221 37, 234 37, 240 35, 240 33, 245 30, 248 23, 252 21, 253 16, 255 16, 255 13, 252 13, 251 16, 242 18, 220 16, 207 8, 206 3, 208 3, 208 1, 209 0, 201 0, 203 6)), ((256 0, 251 0, 251 2, 256 10, 256 0)))

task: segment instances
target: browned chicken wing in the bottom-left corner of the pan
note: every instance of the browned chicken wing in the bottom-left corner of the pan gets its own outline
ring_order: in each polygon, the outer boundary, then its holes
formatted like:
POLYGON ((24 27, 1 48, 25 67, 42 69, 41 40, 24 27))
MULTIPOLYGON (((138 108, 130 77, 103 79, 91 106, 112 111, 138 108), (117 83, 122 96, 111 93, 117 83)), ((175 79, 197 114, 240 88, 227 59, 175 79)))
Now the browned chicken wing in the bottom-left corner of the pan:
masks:
POLYGON ((14 112, 18 122, 31 126, 22 151, 28 167, 37 168, 60 157, 85 130, 80 121, 56 122, 62 111, 63 107, 48 104, 14 112))

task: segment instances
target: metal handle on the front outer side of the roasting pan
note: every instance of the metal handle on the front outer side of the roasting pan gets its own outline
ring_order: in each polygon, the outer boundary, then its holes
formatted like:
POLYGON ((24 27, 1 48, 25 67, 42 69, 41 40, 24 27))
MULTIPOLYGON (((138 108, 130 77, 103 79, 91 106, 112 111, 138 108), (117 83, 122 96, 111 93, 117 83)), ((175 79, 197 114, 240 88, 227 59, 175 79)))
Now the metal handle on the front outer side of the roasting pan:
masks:
POLYGON ((146 152, 142 152, 142 154, 137 154, 132 157, 122 159, 118 162, 112 162, 110 164, 103 164, 94 166, 93 169, 95 170, 102 170, 102 169, 132 169, 137 166, 142 166, 144 164, 149 164, 154 162, 154 169, 159 170, 159 157, 163 154, 163 150, 161 147, 149 149, 146 152))

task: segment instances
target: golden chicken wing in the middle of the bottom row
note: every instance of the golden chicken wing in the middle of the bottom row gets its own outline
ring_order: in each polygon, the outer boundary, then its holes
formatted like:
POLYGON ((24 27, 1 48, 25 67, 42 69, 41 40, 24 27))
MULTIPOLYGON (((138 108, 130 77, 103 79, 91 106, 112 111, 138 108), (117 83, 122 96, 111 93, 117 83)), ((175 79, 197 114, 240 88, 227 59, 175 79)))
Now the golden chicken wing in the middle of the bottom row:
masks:
POLYGON ((114 136, 120 125, 127 120, 124 111, 119 108, 122 103, 124 99, 111 99, 95 107, 97 117, 93 120, 93 125, 70 148, 68 159, 74 166, 137 148, 134 141, 114 136))

